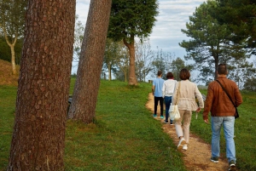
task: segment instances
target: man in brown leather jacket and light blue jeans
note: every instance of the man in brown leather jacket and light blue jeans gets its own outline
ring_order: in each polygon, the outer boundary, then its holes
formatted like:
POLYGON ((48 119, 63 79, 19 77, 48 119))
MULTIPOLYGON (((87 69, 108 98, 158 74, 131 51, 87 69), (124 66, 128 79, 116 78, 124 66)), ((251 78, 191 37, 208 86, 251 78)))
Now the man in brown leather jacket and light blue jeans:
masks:
POLYGON ((226 157, 229 160, 230 169, 236 169, 236 146, 234 141, 234 125, 236 108, 230 101, 227 94, 230 95, 231 100, 237 106, 241 105, 242 98, 239 88, 236 83, 228 79, 227 66, 225 64, 218 65, 218 82, 209 83, 207 90, 207 99, 205 101, 205 109, 203 111, 203 119, 205 123, 208 121, 208 113, 211 111, 212 123, 212 157, 211 161, 218 163, 219 157, 219 140, 220 130, 224 128, 224 138, 226 142, 226 157), (225 93, 226 90, 227 94, 225 93))

